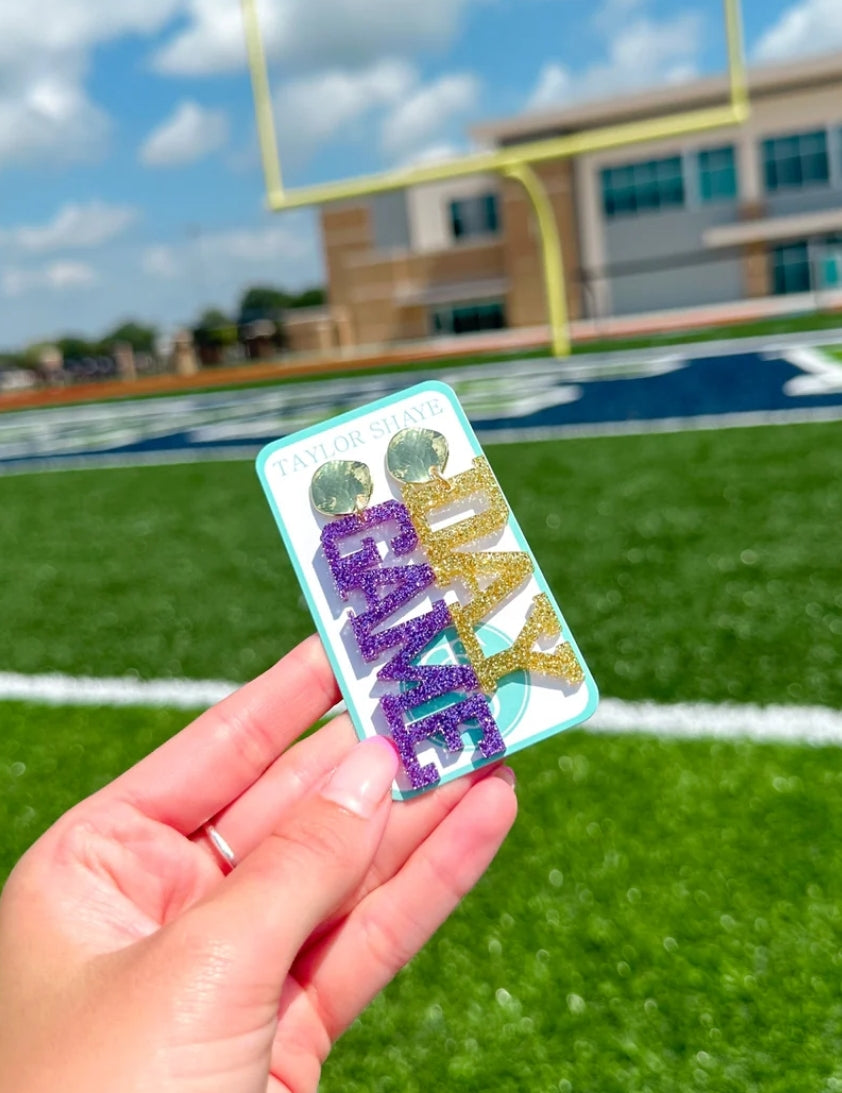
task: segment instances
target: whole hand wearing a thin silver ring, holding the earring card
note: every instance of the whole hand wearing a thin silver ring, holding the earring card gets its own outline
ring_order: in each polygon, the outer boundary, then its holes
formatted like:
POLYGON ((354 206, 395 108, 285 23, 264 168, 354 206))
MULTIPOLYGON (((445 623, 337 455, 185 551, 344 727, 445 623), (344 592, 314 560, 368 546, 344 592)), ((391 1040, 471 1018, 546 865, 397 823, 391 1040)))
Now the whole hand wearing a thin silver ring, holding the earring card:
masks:
POLYGON ((0 900, 0 1090, 316 1090, 514 822, 511 772, 394 804, 316 638, 77 806, 0 900), (203 825, 234 849, 230 873, 203 825))

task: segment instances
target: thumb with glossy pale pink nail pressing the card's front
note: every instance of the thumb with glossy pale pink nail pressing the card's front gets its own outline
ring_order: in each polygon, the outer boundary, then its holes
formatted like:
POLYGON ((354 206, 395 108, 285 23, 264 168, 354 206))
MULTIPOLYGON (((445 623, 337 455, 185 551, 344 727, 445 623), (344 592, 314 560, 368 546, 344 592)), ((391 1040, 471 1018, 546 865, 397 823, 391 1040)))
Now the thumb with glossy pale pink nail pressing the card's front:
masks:
POLYGON ((185 916, 224 947, 244 986, 257 976, 280 995, 307 938, 362 883, 383 838, 398 763, 382 737, 355 744, 317 794, 185 916))

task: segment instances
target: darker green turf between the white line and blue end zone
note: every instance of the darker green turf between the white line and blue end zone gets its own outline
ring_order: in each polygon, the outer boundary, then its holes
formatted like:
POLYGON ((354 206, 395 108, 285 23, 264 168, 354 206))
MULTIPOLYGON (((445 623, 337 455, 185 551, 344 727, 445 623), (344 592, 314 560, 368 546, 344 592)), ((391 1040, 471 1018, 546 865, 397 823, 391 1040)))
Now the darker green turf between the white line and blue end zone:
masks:
MULTIPOLYGON (((490 458, 603 693, 842 706, 842 425, 490 458)), ((0 665, 241 680, 311 630, 254 469, 0 480, 0 665)))

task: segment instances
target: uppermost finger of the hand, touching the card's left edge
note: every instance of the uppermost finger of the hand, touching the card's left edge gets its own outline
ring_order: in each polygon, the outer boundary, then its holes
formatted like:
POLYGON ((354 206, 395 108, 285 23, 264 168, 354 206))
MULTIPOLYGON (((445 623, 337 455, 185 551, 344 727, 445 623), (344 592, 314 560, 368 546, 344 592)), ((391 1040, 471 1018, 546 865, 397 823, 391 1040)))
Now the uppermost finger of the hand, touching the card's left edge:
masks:
POLYGON ((189 835, 239 797, 338 697, 321 643, 311 637, 103 795, 189 835))

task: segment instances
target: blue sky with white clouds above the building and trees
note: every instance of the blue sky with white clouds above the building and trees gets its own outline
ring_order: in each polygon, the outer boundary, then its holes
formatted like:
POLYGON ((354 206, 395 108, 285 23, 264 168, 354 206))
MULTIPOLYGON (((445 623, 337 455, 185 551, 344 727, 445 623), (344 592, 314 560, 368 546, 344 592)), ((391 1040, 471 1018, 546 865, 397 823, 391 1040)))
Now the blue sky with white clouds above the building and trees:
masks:
MULTIPOLYGON (((842 0, 742 3, 752 63, 842 50, 842 0)), ((260 7, 289 186, 726 63, 721 0, 260 7)), ((0 346, 321 282, 314 214, 265 208, 238 0, 0 4, 0 346)))

